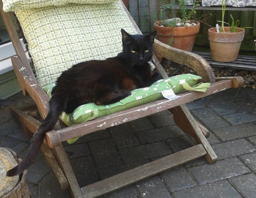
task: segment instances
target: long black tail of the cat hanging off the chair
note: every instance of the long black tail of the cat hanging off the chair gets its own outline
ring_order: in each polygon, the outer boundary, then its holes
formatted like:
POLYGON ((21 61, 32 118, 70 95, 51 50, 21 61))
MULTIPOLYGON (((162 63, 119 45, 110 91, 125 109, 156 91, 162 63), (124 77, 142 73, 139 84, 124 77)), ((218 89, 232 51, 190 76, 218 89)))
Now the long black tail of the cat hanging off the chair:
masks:
POLYGON ((33 137, 31 138, 31 144, 24 159, 16 167, 8 170, 7 176, 14 176, 22 173, 33 163, 43 143, 45 133, 54 129, 54 125, 59 119, 60 114, 65 110, 67 106, 67 101, 68 97, 63 92, 57 97, 52 95, 52 98, 49 101, 49 113, 47 114, 46 119, 44 119, 44 122, 39 126, 38 130, 36 130, 33 137))

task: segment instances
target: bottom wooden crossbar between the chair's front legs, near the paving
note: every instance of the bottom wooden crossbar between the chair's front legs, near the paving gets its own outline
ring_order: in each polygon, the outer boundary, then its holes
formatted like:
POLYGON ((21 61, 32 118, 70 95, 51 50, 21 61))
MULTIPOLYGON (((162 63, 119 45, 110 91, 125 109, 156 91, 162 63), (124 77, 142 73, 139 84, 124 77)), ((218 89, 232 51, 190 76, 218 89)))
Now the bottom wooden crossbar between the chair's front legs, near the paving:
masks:
POLYGON ((150 176, 157 175, 158 173, 169 170, 177 165, 202 157, 205 154, 204 146, 192 146, 191 148, 184 149, 183 151, 175 152, 174 154, 162 157, 161 159, 149 162, 148 164, 141 165, 140 167, 133 168, 132 170, 128 170, 105 180, 90 184, 81 188, 81 190, 83 192, 83 196, 86 198, 99 197, 149 178, 150 176))

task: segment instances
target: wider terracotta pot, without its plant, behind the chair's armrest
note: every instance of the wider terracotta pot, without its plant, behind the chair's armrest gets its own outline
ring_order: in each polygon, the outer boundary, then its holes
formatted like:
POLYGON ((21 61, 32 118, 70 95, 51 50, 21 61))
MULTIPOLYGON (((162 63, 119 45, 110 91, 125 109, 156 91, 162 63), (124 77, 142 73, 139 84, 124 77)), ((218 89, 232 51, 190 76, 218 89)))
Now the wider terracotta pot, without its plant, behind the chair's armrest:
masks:
POLYGON ((159 22, 160 21, 154 23, 154 30, 157 30, 157 39, 159 39, 159 41, 170 44, 170 40, 172 39, 172 47, 191 52, 196 34, 199 33, 199 22, 196 22, 196 25, 173 28, 159 26, 159 22))

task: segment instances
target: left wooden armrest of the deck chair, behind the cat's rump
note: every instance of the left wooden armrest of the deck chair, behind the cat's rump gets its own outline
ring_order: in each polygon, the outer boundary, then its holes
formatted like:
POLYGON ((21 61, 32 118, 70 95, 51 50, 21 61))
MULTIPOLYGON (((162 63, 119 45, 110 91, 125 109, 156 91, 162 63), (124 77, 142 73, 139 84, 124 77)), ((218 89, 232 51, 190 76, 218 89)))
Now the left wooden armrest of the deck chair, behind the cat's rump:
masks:
POLYGON ((35 101, 41 117, 45 118, 49 108, 49 98, 38 85, 30 65, 24 64, 17 56, 12 57, 11 60, 22 92, 25 93, 27 91, 29 93, 30 97, 35 101))

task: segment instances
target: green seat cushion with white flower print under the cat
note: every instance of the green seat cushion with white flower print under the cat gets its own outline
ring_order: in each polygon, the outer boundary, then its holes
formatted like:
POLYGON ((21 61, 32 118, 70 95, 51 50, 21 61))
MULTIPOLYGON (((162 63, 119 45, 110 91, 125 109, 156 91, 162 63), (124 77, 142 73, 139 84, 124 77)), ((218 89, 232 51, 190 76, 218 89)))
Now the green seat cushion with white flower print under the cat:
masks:
MULTIPOLYGON (((163 98, 161 92, 164 90, 171 89, 174 93, 180 93, 184 90, 205 92, 210 84, 202 83, 196 85, 196 82, 199 79, 201 79, 200 76, 193 74, 181 74, 178 76, 169 77, 168 79, 162 79, 155 82, 150 87, 133 90, 130 96, 118 101, 117 103, 99 106, 95 105, 94 103, 88 103, 86 105, 79 106, 71 114, 63 112, 60 115, 60 120, 62 120, 67 125, 73 125, 96 119, 97 117, 116 113, 124 109, 149 103, 150 101, 159 100, 160 98, 163 98)), ((49 97, 51 97, 51 91, 53 87, 54 84, 49 84, 44 87, 44 90, 49 97)), ((69 142, 72 142, 72 140, 69 142)))

